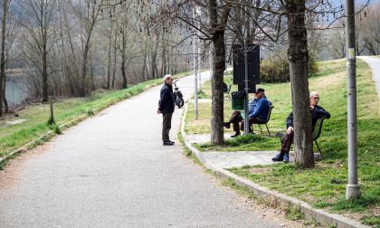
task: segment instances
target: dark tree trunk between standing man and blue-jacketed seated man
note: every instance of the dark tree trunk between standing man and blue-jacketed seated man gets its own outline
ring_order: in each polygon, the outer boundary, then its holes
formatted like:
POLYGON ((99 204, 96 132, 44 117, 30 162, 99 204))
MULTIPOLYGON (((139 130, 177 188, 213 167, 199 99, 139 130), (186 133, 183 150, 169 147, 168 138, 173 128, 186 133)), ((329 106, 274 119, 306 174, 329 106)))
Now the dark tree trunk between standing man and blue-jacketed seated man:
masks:
POLYGON ((212 118, 211 142, 215 145, 224 144, 223 130, 223 72, 225 70, 224 31, 217 31, 213 37, 214 43, 214 75, 211 79, 212 88, 212 118))

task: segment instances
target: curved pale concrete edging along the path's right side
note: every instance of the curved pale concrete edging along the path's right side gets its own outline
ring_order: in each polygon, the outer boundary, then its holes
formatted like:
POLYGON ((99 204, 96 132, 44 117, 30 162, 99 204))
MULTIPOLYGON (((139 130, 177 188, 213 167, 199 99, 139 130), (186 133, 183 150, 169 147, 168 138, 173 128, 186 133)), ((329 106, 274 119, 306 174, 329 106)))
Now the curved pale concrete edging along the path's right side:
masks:
POLYGON ((359 223, 356 220, 347 218, 341 214, 331 214, 326 211, 315 209, 311 207, 306 202, 300 201, 294 197, 290 197, 288 195, 280 194, 279 192, 272 191, 266 187, 263 187, 261 185, 255 184, 250 180, 244 179, 241 176, 237 176, 233 174, 230 171, 227 171, 222 168, 216 168, 210 164, 207 163, 207 161, 204 160, 202 152, 200 152, 198 149, 193 147, 189 140, 187 139, 186 133, 185 133, 185 117, 187 114, 187 108, 188 108, 188 102, 185 105, 184 115, 182 115, 182 121, 181 121, 181 135, 182 138, 184 138, 185 147, 187 147, 191 153, 197 157, 204 166, 214 171, 216 176, 220 178, 231 178, 236 183, 236 185, 241 185, 244 187, 247 187, 250 191, 252 191, 253 194, 259 196, 259 197, 265 197, 271 202, 274 202, 276 205, 290 205, 295 208, 299 208, 299 211, 305 214, 306 219, 311 221, 316 221, 321 224, 329 224, 334 225, 337 228, 370 228, 370 226, 367 226, 365 224, 359 223))

